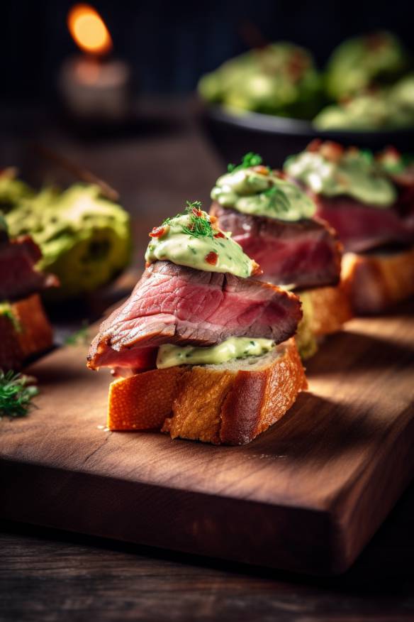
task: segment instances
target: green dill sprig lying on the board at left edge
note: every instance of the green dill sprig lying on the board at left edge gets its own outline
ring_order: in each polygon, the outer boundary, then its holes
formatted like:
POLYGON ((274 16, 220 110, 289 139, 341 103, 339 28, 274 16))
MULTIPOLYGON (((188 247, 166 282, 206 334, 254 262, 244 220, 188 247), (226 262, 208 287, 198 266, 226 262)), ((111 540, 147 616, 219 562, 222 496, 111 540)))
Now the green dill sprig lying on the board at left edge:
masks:
POLYGON ((39 391, 29 382, 30 378, 21 373, 0 370, 0 418, 24 417, 34 408, 31 399, 39 391))

